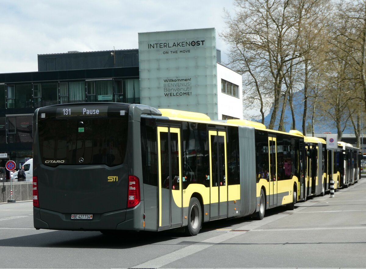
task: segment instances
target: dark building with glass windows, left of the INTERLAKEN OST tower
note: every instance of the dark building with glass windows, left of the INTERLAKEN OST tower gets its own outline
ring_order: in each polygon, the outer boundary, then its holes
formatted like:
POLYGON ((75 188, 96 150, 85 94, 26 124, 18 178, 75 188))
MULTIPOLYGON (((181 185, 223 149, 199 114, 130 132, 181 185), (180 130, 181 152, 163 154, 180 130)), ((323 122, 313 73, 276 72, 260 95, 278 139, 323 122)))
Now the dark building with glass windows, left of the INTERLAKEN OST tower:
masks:
POLYGON ((138 49, 38 55, 38 71, 0 74, 0 166, 32 158, 32 115, 62 103, 139 103, 138 49))

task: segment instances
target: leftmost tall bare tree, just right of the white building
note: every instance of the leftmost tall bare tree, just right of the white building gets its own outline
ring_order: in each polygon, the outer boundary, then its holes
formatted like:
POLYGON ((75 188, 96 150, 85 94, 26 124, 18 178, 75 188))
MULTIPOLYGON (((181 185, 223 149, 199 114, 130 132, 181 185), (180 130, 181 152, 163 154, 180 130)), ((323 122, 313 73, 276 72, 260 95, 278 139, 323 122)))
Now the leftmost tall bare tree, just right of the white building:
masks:
MULTIPOLYGON (((230 64, 241 63, 241 70, 255 74, 252 79, 257 93, 268 89, 261 88, 257 83, 259 80, 272 85, 273 106, 268 128, 273 129, 283 96, 284 66, 300 57, 299 53, 294 52, 294 26, 298 18, 291 15, 292 0, 235 0, 235 3, 238 11, 234 18, 227 14, 227 31, 221 37, 232 45, 230 64), (253 56, 255 57, 251 58, 253 56), (243 59, 247 60, 243 62, 243 59)), ((260 97, 258 99, 262 106, 264 103, 260 97)), ((283 122, 283 116, 281 117, 280 124, 283 122)))

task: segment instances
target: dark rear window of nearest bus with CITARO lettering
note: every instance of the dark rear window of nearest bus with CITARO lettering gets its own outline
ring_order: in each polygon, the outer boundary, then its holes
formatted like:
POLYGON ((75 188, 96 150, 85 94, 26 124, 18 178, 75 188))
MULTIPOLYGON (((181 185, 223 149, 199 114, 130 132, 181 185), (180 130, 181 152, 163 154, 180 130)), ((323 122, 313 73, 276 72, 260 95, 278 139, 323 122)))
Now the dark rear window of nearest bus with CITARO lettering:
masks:
POLYGON ((49 119, 38 123, 42 162, 48 166, 123 163, 127 117, 49 119))

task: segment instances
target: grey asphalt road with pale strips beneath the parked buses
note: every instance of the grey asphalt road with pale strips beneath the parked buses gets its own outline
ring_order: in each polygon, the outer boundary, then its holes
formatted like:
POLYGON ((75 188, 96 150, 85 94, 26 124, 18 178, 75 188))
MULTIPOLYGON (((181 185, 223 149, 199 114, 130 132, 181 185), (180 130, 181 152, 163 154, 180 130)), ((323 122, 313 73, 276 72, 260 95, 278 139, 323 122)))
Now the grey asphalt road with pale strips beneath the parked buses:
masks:
POLYGON ((0 204, 0 268, 366 268, 366 178, 324 197, 180 232, 33 228, 31 202, 0 204))

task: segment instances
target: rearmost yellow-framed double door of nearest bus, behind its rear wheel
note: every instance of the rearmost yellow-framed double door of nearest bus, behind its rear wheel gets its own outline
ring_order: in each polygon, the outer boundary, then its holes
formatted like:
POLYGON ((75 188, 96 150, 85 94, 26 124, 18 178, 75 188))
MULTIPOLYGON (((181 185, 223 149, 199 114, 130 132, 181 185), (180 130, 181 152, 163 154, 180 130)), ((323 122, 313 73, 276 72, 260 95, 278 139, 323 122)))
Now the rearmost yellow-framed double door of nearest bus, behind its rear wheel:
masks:
POLYGON ((180 128, 158 126, 159 227, 182 226, 182 158, 180 128))

